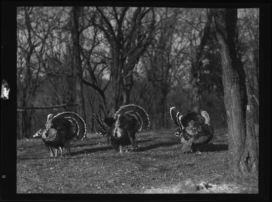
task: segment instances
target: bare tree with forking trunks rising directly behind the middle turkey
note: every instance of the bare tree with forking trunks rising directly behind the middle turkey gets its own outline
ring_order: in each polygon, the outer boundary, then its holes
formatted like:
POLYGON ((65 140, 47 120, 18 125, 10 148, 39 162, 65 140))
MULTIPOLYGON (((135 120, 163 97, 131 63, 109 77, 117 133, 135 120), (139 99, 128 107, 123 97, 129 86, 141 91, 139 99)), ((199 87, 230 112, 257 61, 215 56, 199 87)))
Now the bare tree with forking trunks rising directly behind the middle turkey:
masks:
POLYGON ((147 25, 143 25, 144 17, 152 9, 140 7, 97 7, 97 11, 100 15, 95 25, 104 33, 109 44, 113 90, 111 113, 114 113, 120 104, 130 103, 133 69, 152 39, 155 19, 153 14, 151 22, 147 21, 147 25), (132 12, 131 18, 126 17, 129 15, 128 10, 132 12))

